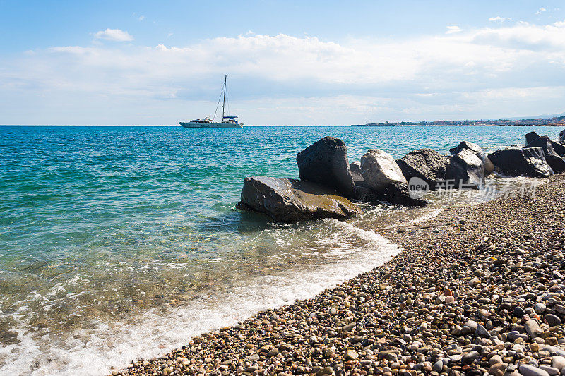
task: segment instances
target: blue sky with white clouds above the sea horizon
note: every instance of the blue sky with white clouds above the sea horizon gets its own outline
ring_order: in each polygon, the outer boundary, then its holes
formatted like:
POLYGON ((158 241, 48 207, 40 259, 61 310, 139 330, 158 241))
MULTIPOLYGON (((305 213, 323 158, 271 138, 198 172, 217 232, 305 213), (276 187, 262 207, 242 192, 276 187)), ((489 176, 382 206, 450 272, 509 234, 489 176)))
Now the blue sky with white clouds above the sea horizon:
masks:
POLYGON ((563 1, 0 0, 1 124, 565 112, 563 1))

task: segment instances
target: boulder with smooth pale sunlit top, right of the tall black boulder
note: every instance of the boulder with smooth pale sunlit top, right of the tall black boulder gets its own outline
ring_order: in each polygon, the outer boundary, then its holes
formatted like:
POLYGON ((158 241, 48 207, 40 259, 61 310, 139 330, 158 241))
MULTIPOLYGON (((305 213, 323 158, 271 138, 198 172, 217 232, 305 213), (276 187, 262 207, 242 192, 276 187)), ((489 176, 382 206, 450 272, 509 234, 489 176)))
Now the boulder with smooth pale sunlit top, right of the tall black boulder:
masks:
POLYGON ((364 185, 370 192, 364 192, 366 198, 388 201, 403 206, 424 206, 422 198, 412 198, 408 182, 394 158, 379 149, 371 149, 361 157, 361 175, 364 185), (372 193, 372 195, 371 195, 372 193))

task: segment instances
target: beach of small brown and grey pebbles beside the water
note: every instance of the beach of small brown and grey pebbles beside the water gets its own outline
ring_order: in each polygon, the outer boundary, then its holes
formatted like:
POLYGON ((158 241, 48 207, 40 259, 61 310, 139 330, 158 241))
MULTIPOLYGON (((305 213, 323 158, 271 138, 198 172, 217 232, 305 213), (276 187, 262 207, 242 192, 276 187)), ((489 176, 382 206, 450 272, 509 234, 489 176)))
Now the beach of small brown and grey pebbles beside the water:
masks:
POLYGON ((377 269, 112 375, 561 373, 564 189, 376 229, 403 248, 377 269))

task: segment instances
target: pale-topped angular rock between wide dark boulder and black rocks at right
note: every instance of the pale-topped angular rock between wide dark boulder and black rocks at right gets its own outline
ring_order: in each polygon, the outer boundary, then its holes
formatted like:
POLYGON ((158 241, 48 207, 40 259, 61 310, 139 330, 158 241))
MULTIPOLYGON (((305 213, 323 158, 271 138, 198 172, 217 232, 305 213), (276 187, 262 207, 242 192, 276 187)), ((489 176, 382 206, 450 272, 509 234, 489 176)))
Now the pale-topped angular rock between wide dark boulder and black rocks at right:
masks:
POLYGON ((472 150, 463 148, 451 157, 446 180, 452 188, 479 189, 484 186, 484 164, 472 150))

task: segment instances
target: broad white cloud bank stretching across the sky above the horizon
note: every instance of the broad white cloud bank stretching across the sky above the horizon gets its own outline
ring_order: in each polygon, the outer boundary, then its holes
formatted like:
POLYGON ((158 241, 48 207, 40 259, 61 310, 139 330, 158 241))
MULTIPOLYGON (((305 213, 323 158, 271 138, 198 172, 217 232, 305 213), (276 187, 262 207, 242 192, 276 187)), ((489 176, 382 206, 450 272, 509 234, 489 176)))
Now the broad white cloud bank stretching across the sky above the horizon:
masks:
MULTIPOLYGON (((117 29, 95 37, 133 40, 117 29)), ((0 111, 3 123, 176 123, 213 113, 227 73, 246 123, 530 116, 565 111, 564 69, 565 21, 403 40, 248 34, 185 47, 66 46, 0 63, 0 111)))

